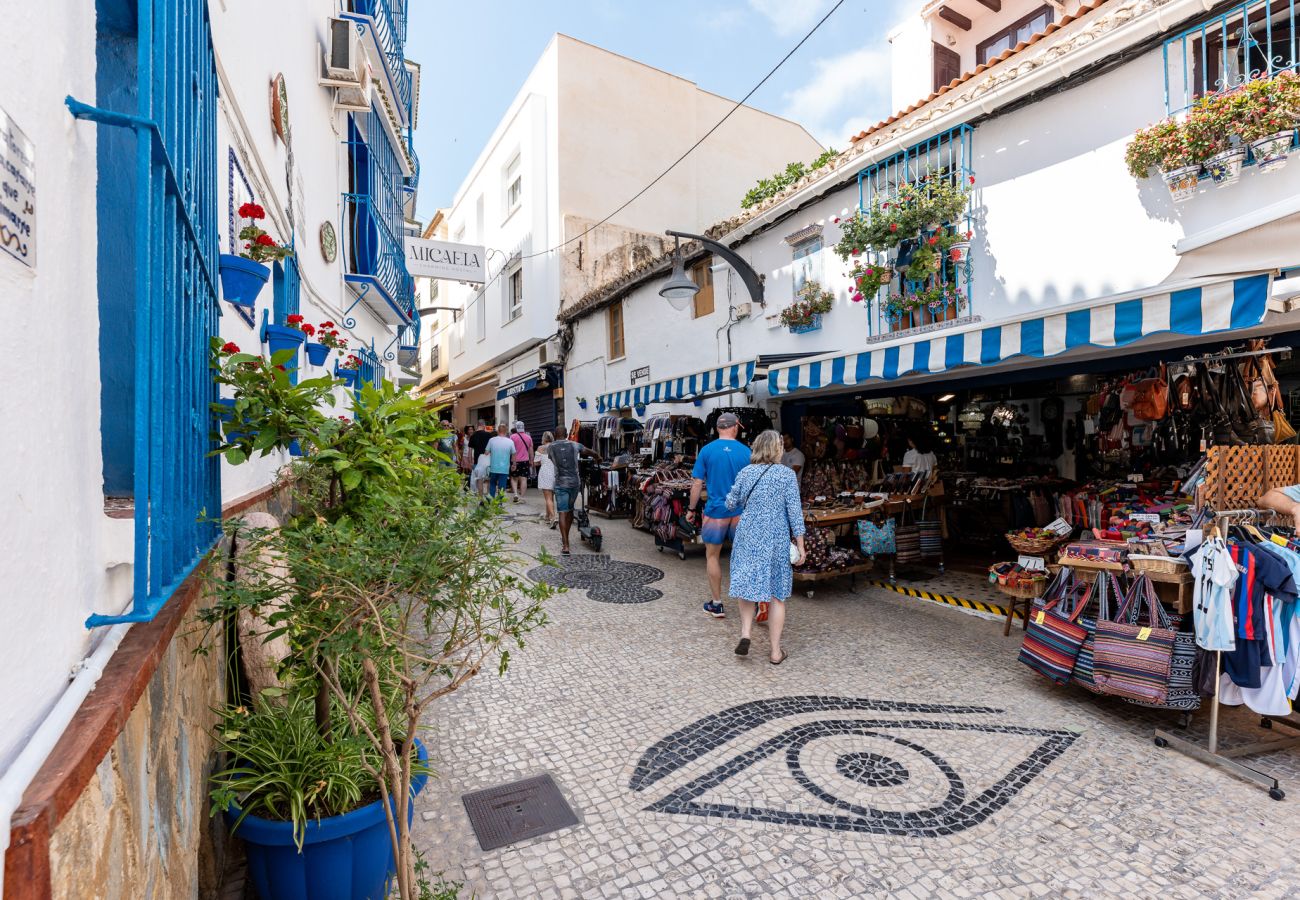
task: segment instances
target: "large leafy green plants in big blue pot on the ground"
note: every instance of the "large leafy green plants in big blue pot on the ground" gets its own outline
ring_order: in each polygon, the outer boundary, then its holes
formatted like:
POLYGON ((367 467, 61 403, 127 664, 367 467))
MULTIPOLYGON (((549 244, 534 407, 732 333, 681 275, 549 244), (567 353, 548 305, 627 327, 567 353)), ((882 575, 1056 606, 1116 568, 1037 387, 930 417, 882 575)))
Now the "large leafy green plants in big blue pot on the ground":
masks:
MULTIPOLYGON (((212 577, 209 633, 247 616, 240 640, 278 648, 257 670, 278 684, 220 710, 213 810, 243 838, 260 896, 420 900, 421 722, 476 672, 506 671, 550 590, 517 574, 499 507, 467 503, 439 464, 436 412, 384 381, 354 421, 334 419, 330 378, 290 385, 248 362, 218 354, 216 365, 252 446, 311 453, 286 484, 294 512, 273 529, 230 523, 239 572, 212 577)), ((239 464, 238 450, 221 453, 239 464)))

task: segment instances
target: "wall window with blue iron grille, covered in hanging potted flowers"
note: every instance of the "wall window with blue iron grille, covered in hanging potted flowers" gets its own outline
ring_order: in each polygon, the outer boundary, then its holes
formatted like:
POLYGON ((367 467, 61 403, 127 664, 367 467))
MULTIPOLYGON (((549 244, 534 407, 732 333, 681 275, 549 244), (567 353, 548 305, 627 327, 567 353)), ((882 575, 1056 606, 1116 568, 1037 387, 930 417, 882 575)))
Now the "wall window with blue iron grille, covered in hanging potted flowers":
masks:
MULTIPOLYGON (((971 135, 974 129, 958 125, 918 144, 880 160, 858 173, 858 208, 870 211, 878 200, 889 202, 896 198, 902 186, 919 190, 940 181, 968 185, 974 178, 971 169, 971 135)), ((935 222, 930 237, 942 232, 945 235, 970 234, 972 211, 970 203, 958 221, 935 222)), ((956 323, 972 315, 972 280, 970 254, 959 259, 949 255, 939 256, 939 265, 923 280, 906 277, 904 267, 919 239, 901 243, 888 251, 871 250, 862 264, 888 265, 894 269, 890 282, 884 285, 875 297, 866 297, 868 336, 890 334, 913 328, 940 326, 956 323), (906 302, 926 293, 932 293, 935 300, 911 310, 900 310, 906 302)))

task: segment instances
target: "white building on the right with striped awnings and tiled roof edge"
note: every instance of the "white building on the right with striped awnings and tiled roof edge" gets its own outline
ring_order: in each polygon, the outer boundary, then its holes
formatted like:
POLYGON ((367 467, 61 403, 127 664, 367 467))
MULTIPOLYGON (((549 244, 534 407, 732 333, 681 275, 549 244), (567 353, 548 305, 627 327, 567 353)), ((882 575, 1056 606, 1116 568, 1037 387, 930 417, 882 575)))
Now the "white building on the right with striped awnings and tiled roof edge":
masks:
MULTIPOLYGON (((1277 3, 1254 7, 1256 29, 1288 14, 1277 3)), ((1294 328, 1279 276, 1300 261, 1300 166, 1247 165, 1222 190, 1204 177, 1197 195, 1176 204, 1158 177, 1126 170, 1134 133, 1186 105, 1175 60, 1202 25, 1231 33, 1234 21, 1183 0, 920 8, 892 33, 894 74, 911 103, 857 135, 828 173, 715 228, 764 278, 766 306, 751 304, 736 273, 698 246, 685 248, 686 263, 714 269, 708 316, 659 297, 671 255, 590 291, 562 313, 572 329, 566 415, 760 406, 776 421, 783 404, 806 398, 1294 328), (933 92, 931 57, 920 68, 913 57, 949 46, 954 25, 941 13, 954 8, 968 17, 952 42, 968 68, 933 92), (1022 21, 1039 30, 1017 31, 996 57, 971 56, 1022 21), (926 172, 972 179, 968 268, 956 274, 959 303, 892 320, 888 291, 854 302, 853 260, 833 247, 859 203, 926 172), (792 333, 779 316, 807 280, 835 302, 819 328, 792 333), (614 343, 625 347, 621 358, 614 343)))

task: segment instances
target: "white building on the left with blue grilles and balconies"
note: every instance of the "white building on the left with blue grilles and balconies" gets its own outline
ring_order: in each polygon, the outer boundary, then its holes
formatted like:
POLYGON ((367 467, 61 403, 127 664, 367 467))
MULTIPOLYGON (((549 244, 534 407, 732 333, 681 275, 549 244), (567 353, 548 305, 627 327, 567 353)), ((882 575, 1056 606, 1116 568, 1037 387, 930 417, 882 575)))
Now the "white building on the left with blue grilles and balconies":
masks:
MULTIPOLYGON (((209 341, 268 354, 268 326, 332 321, 373 381, 396 378, 399 351, 413 364, 419 345, 402 247, 419 172, 404 0, 77 0, 16 13, 3 66, 27 87, 0 96, 3 179, 29 156, 39 204, 5 220, 6 245, 20 220, 30 234, 0 254, 22 336, 0 372, 43 389, 9 391, 0 432, 6 838, 105 666, 157 665, 122 657, 131 629, 194 587, 222 509, 261 502, 287 462, 207 457, 209 341), (221 255, 240 251, 244 203, 292 247, 251 308, 229 302, 221 272, 221 255)), ((298 355, 303 377, 341 362, 298 355)), ((337 398, 346 412, 347 393, 337 398)), ((161 765, 178 749, 156 752, 161 765)), ((198 835, 205 787, 187 787, 198 835)))

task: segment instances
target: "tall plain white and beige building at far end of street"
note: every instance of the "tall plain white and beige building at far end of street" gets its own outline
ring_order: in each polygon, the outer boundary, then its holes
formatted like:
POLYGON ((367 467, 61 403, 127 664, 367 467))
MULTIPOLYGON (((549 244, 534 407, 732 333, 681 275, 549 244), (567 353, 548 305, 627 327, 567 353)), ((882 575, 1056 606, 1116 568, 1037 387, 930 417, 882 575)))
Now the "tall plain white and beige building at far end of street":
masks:
POLYGON ((442 394, 456 401, 456 424, 519 417, 530 430, 556 427, 560 308, 662 252, 664 229, 712 222, 758 178, 820 152, 798 125, 741 108, 619 209, 732 105, 555 35, 446 212, 451 241, 488 248, 485 285, 439 287, 439 303, 464 310, 450 329, 442 394))

